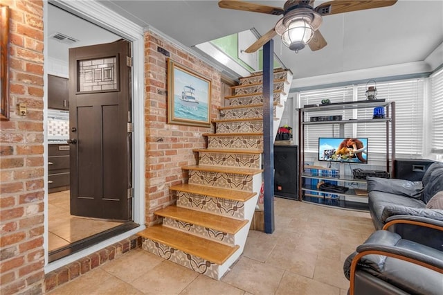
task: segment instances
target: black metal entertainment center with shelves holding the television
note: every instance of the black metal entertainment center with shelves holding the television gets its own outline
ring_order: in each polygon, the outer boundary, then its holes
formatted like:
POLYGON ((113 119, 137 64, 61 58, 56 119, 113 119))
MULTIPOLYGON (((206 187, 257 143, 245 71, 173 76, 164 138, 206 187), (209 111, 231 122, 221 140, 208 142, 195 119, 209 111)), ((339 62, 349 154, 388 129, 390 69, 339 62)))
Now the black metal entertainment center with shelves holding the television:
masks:
MULTIPOLYGON (((299 158, 298 169, 298 197, 300 201, 314 202, 316 204, 350 208, 355 210, 368 210, 368 197, 365 191, 366 177, 379 175, 379 177, 391 177, 395 175, 395 167, 392 161, 395 159, 395 102, 385 100, 364 100, 344 103, 329 103, 323 105, 309 105, 299 109, 299 158), (377 116, 371 118, 345 118, 345 110, 373 108, 377 116), (378 111, 383 109, 383 116, 378 111), (386 111, 385 111, 386 109, 386 111), (310 113, 322 112, 322 116, 309 116, 310 113), (325 112, 331 112, 325 116, 325 112), (324 117, 324 119, 318 119, 324 117), (327 118, 330 117, 331 120, 327 118), (310 120, 314 118, 314 120, 310 120), (336 118, 337 120, 334 120, 336 118), (338 120, 341 118, 341 120, 338 120), (386 134, 386 171, 366 169, 365 165, 370 161, 371 138, 349 138, 345 134, 345 125, 370 123, 378 124, 380 132, 386 134), (305 129, 309 125, 338 125, 338 136, 327 138, 331 144, 329 147, 320 149, 316 159, 335 162, 340 169, 323 166, 309 166, 305 163, 305 129), (333 141, 335 139, 335 141, 333 141), (345 140, 359 139, 361 143, 353 145, 345 144, 345 140), (341 143, 343 141, 343 143, 341 143), (363 154, 364 153, 364 154, 363 154), (345 174, 344 163, 352 163, 356 169, 350 175, 345 174), (356 164, 356 165, 354 165, 356 164), (361 165, 361 166, 360 166, 361 165), (365 169, 363 169, 365 168, 365 169), (323 188, 323 190, 322 190, 323 188), (347 189, 346 189, 347 188, 347 189), (361 189, 364 188, 364 189, 361 189)), ((335 134, 334 134, 335 135, 335 134)), ((347 165, 347 164, 346 164, 347 165)), ((330 167, 330 165, 329 165, 330 167)))

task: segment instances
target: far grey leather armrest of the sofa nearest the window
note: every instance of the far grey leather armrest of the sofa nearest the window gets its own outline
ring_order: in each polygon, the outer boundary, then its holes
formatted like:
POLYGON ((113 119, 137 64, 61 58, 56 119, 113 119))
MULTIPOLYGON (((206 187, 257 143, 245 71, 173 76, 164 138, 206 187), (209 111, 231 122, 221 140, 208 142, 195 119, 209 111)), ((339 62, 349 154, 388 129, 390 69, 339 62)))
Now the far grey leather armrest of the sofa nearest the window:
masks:
POLYGON ((366 177, 368 182, 368 192, 375 190, 383 193, 413 197, 422 197, 422 181, 409 181, 405 179, 386 179, 380 177, 366 177))

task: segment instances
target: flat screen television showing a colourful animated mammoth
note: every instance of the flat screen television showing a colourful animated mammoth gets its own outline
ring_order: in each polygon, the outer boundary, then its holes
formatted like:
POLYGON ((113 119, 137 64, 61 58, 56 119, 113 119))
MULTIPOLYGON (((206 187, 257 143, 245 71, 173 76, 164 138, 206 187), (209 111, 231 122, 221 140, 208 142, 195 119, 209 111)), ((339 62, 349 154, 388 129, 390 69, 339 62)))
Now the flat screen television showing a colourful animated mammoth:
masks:
POLYGON ((368 163, 368 138, 318 138, 318 160, 368 163))

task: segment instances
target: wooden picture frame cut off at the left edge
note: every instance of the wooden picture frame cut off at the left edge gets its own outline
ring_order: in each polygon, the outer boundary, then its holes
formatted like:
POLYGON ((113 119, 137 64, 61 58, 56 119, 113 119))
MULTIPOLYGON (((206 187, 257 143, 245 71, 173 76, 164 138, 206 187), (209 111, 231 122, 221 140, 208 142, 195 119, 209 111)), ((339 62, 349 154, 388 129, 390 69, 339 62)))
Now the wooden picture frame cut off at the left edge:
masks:
POLYGON ((9 7, 0 6, 0 120, 9 120, 9 7))

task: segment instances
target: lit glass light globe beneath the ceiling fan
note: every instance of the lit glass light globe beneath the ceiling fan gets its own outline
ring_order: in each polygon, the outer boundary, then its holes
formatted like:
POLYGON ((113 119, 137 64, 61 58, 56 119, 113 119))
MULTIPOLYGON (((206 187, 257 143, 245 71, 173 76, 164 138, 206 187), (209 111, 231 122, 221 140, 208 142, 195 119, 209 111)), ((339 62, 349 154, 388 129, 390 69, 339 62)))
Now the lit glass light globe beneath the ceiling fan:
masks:
POLYGON ((282 33, 282 42, 293 51, 305 47, 314 36, 314 28, 305 20, 292 21, 288 28, 282 33))

